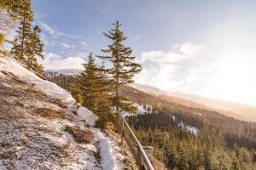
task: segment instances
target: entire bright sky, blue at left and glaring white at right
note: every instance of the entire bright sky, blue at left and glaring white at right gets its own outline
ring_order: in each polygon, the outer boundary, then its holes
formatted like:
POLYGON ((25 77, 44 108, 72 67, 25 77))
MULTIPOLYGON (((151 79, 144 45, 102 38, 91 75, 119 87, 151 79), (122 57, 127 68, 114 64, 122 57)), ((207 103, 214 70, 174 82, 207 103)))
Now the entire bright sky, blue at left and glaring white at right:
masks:
POLYGON ((256 105, 256 2, 32 1, 46 69, 81 69, 119 20, 143 71, 136 82, 256 105))

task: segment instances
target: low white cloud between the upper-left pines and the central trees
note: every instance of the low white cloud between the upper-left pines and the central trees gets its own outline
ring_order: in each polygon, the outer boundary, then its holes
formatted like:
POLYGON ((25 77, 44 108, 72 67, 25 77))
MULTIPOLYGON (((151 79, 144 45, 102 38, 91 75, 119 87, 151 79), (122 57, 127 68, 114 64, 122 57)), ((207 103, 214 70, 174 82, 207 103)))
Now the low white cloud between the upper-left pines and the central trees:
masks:
POLYGON ((62 58, 58 54, 45 53, 45 59, 41 60, 40 63, 44 65, 46 70, 59 70, 59 69, 76 69, 83 70, 84 58, 77 56, 70 56, 62 58))

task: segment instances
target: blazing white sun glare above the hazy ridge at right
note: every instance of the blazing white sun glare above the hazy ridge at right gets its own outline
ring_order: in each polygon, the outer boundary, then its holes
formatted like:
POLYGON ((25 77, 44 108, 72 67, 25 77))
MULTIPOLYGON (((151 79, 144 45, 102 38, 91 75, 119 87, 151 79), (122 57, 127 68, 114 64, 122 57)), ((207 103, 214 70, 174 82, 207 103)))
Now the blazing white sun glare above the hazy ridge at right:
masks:
POLYGON ((247 58, 229 56, 218 60, 207 86, 207 96, 253 104, 255 80, 251 77, 253 67, 247 58))

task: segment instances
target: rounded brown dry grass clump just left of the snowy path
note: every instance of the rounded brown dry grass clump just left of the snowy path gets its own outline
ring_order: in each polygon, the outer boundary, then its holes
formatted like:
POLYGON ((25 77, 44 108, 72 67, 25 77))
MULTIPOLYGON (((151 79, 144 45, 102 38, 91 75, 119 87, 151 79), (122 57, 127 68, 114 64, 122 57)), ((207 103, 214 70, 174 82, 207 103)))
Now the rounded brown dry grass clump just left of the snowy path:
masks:
POLYGON ((90 130, 86 128, 81 129, 78 126, 67 126, 65 127, 64 131, 71 133, 73 135, 73 139, 75 139, 75 141, 79 144, 88 144, 94 138, 94 135, 90 132, 90 130))

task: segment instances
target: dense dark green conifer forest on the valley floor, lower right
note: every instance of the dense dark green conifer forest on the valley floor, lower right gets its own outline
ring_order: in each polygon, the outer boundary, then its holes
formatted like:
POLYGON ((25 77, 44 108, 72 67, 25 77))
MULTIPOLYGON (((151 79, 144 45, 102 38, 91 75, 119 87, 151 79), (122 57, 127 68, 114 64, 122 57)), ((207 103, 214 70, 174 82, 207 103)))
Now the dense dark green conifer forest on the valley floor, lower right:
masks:
MULTIPOLYGON (((131 124, 137 138, 143 145, 154 147, 154 156, 172 169, 256 169, 255 146, 250 148, 228 144, 225 133, 236 136, 236 131, 227 131, 222 127, 203 127, 196 135, 183 127, 178 127, 172 116, 164 111, 158 113, 130 116, 131 124)), ((254 132, 256 129, 254 128, 254 132)), ((243 134, 242 138, 247 138, 243 134)))

